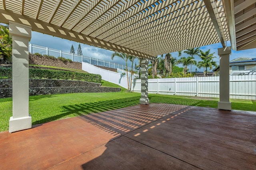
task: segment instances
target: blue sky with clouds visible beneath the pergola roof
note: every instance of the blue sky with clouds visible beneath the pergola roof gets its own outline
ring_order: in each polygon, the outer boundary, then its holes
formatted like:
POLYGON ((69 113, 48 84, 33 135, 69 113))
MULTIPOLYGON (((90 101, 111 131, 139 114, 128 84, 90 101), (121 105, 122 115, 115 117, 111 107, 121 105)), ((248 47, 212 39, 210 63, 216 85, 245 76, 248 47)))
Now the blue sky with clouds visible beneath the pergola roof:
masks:
MULTIPOLYGON (((34 45, 40 45, 40 46, 49 47, 52 49, 66 51, 66 52, 69 52, 71 45, 73 45, 76 53, 77 53, 77 48, 78 48, 78 44, 79 44, 74 41, 70 41, 67 39, 61 39, 58 37, 53 37, 51 35, 46 35, 46 34, 34 32, 34 31, 32 31, 32 37, 31 37, 30 43, 32 43, 34 45)), ((206 46, 200 47, 200 49, 202 51, 207 51, 208 49, 211 49, 211 53, 215 53, 214 54, 214 56, 216 57, 215 61, 217 62, 217 64, 219 64, 218 48, 221 48, 221 47, 222 47, 222 45, 220 43, 217 43, 217 44, 206 45, 206 46)), ((83 55, 86 57, 92 57, 92 58, 96 58, 96 59, 101 59, 101 60, 125 65, 125 62, 118 57, 114 58, 113 61, 111 60, 111 55, 112 55, 113 51, 101 49, 98 47, 94 47, 94 46, 90 46, 90 45, 86 45, 86 44, 82 44, 82 43, 81 43, 81 48, 82 48, 83 55)), ((179 58, 178 52, 174 52, 171 54, 173 57, 176 57, 177 59, 179 58)), ((182 53, 182 56, 187 57, 187 55, 184 53, 182 53)), ((238 57, 256 58, 256 49, 243 50, 243 51, 233 51, 232 50, 231 55, 230 55, 230 60, 236 59, 238 57)), ((200 58, 198 56, 195 56, 195 60, 200 61, 200 58)), ((135 63, 138 64, 138 61, 135 61, 135 63)), ((128 63, 128 66, 131 66, 131 63, 128 63)), ((178 66, 182 67, 182 65, 180 65, 180 64, 178 66)), ((190 68, 190 66, 189 66, 189 68, 190 68)), ((196 69, 196 66, 192 66, 192 71, 195 71, 195 69, 196 69)), ((201 68, 201 69, 197 68, 197 70, 203 71, 203 68, 201 68)))

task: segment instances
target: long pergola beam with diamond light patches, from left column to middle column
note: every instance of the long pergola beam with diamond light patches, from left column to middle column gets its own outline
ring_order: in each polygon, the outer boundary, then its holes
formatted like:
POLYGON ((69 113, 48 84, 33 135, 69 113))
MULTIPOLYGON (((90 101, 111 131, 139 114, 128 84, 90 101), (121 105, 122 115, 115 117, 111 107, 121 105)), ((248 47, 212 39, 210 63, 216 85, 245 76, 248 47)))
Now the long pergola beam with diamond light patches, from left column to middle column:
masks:
POLYGON ((128 55, 145 58, 149 60, 154 60, 155 57, 141 53, 139 51, 122 47, 114 43, 110 43, 101 39, 97 39, 88 35, 78 33, 76 31, 71 31, 69 29, 59 27, 57 25, 46 23, 44 21, 36 20, 28 16, 23 16, 16 14, 8 10, 0 9, 0 22, 9 23, 9 21, 14 21, 16 23, 29 25, 32 27, 32 31, 37 31, 40 33, 45 33, 48 35, 69 39, 71 41, 76 41, 79 43, 84 43, 88 45, 93 45, 95 47, 100 47, 103 49, 108 49, 110 51, 117 51, 121 53, 126 53, 128 55))

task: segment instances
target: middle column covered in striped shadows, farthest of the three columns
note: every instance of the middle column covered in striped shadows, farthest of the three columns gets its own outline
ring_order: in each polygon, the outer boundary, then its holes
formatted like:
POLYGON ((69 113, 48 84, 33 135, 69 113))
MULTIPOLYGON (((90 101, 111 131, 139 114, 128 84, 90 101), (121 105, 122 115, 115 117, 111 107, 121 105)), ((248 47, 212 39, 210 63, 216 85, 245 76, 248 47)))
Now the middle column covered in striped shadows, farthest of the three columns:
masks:
POLYGON ((148 99, 148 59, 141 61, 141 97, 140 104, 149 104, 148 99))

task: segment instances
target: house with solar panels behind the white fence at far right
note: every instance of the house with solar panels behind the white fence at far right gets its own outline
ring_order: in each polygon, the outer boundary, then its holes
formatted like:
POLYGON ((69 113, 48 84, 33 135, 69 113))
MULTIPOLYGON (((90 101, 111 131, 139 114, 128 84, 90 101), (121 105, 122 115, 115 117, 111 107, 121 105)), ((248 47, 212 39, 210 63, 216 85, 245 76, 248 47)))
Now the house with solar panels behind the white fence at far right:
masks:
MULTIPOLYGON (((214 68, 215 76, 220 76, 220 66, 214 68)), ((229 63, 230 76, 256 74, 256 58, 239 57, 229 63)))

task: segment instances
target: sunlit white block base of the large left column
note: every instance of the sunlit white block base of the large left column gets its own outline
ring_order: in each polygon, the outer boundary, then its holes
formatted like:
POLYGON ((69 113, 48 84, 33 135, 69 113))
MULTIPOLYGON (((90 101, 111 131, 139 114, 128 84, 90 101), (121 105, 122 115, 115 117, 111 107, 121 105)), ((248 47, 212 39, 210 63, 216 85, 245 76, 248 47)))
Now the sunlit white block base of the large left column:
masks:
POLYGON ((21 131, 24 129, 30 129, 32 127, 32 118, 31 116, 13 118, 10 117, 9 120, 9 132, 21 131))

